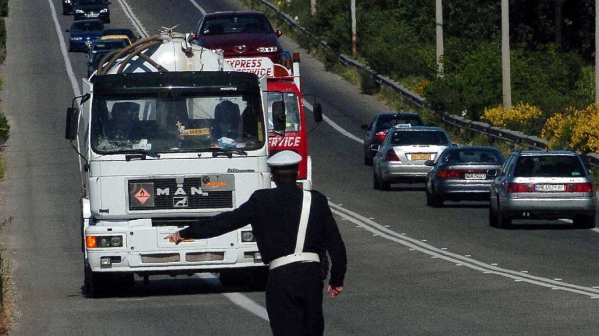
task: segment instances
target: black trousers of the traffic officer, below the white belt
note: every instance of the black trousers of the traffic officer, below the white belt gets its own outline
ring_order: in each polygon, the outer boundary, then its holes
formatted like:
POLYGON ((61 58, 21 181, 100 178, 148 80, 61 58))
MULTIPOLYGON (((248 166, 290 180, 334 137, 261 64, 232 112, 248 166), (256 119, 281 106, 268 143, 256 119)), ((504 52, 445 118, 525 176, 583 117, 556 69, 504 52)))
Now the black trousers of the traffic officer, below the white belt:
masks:
POLYGON ((271 270, 266 309, 274 336, 322 336, 322 267, 319 262, 294 262, 271 270))

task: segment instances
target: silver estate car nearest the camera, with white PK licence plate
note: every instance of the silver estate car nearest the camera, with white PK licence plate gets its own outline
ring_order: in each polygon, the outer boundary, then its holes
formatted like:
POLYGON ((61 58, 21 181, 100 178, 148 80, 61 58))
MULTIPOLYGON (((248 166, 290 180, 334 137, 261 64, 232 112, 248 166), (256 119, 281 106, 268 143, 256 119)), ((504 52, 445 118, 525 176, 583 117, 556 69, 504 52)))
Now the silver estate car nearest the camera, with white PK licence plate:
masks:
POLYGON ((597 197, 589 174, 573 151, 512 152, 491 187, 489 225, 569 218, 577 228, 594 228, 597 197))

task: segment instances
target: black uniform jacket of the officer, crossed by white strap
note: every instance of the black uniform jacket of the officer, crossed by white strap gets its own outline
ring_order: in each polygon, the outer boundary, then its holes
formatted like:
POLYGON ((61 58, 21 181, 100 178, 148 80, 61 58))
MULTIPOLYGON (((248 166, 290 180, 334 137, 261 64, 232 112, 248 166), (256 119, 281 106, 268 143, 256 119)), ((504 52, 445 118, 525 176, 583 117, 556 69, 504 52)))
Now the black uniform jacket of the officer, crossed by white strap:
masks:
MULTIPOLYGON (((343 286, 347 267, 345 245, 332 216, 326 197, 311 191, 310 216, 304 251, 331 256, 331 286, 343 286)), ((235 210, 219 213, 209 221, 197 222, 180 231, 183 238, 207 239, 252 224, 258 249, 265 264, 293 254, 297 241, 302 190, 295 184, 256 190, 246 203, 235 210)))

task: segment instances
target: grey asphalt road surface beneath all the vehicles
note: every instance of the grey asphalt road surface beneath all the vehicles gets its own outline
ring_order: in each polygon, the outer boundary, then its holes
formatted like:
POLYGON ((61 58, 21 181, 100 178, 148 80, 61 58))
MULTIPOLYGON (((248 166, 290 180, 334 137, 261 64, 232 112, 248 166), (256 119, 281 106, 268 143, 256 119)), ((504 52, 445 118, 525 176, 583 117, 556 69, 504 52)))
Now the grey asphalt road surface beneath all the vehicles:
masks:
MULTIPOLYGON (((202 10, 241 9, 209 0, 111 8, 110 26, 143 34, 190 31, 202 10)), ((270 334, 263 292, 225 289, 209 276, 137 281, 131 297, 81 295, 80 177, 63 125, 86 66, 84 54, 64 49, 72 18, 61 12, 59 0, 11 1, 6 20, 0 98, 11 139, 0 219, 16 293, 11 335, 270 334)), ((387 108, 299 51, 304 91, 331 121, 310 134, 314 187, 330 198, 349 254, 343 294, 325 300, 326 335, 599 334, 595 229, 556 221, 498 230, 484 203, 432 209, 423 185, 373 190, 359 126, 387 108)))

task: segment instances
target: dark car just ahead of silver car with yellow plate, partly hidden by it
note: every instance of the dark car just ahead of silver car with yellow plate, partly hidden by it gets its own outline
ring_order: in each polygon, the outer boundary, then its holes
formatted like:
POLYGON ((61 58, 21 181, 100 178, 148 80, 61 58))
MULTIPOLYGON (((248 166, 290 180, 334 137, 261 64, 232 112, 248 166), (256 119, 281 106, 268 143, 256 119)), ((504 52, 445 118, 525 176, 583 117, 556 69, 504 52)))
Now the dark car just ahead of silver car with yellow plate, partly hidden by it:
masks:
POLYGON ((367 131, 364 137, 364 164, 372 166, 376 151, 373 151, 370 146, 379 145, 383 142, 389 129, 398 124, 424 126, 420 115, 412 112, 380 112, 374 117, 370 125, 364 124, 361 126, 362 129, 367 131))

